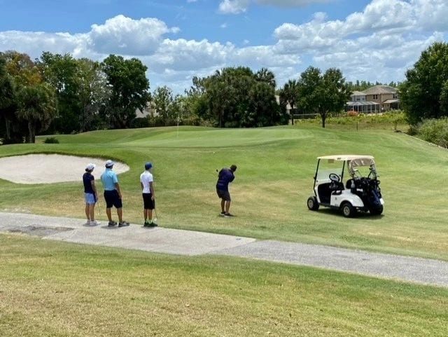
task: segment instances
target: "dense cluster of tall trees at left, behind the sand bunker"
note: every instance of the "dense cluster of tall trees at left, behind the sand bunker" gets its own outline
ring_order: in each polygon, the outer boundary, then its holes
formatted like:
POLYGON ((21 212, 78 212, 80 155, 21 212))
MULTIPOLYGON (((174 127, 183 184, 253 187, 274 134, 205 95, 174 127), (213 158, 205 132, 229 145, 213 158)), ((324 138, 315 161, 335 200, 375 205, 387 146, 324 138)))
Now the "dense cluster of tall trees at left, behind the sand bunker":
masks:
POLYGON ((151 99, 146 70, 136 58, 116 55, 95 62, 0 53, 0 137, 32 143, 39 132, 130 128, 136 109, 151 99))

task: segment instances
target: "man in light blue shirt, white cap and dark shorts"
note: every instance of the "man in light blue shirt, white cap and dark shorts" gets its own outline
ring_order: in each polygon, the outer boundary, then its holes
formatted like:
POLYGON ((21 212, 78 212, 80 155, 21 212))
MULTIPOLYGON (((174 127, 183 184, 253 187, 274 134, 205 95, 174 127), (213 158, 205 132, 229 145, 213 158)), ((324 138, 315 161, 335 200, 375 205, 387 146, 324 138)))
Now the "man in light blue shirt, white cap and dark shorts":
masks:
POLYGON ((106 161, 106 170, 101 175, 101 182, 104 187, 104 200, 106 200, 106 214, 109 219, 109 227, 116 226, 116 222, 112 220, 111 208, 116 207, 118 215, 118 227, 129 226, 129 222, 123 221, 123 202, 121 201, 120 184, 118 177, 113 172, 113 161, 106 161))

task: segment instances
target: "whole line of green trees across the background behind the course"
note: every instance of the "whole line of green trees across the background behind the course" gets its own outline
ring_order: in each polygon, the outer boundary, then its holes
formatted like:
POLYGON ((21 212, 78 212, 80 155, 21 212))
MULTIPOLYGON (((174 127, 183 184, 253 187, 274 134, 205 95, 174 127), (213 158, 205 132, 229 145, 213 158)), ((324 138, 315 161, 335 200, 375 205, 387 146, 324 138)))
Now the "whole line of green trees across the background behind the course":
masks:
MULTIPOLYGON (((448 116, 448 44, 421 53, 398 87, 409 123, 448 116)), ((184 95, 167 86, 150 92, 147 67, 137 58, 109 55, 102 62, 70 54, 0 53, 0 138, 34 142, 36 135, 151 125, 254 128, 294 123, 294 114, 318 114, 322 126, 368 81, 346 82, 337 68, 309 67, 276 90, 269 69, 227 67, 193 77, 184 95), (137 118, 136 111, 150 111, 137 118)))

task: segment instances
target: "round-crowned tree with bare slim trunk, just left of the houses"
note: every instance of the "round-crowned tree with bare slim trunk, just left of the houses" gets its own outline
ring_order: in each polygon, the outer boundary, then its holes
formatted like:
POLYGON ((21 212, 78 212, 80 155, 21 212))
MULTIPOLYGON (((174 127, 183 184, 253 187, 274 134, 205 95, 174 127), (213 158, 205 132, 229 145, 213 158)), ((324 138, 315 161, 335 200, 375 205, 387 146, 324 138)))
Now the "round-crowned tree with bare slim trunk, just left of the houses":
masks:
POLYGON ((321 115, 322 128, 325 128, 328 114, 344 109, 350 94, 339 69, 330 68, 322 75, 320 69, 309 67, 300 75, 300 105, 321 115))

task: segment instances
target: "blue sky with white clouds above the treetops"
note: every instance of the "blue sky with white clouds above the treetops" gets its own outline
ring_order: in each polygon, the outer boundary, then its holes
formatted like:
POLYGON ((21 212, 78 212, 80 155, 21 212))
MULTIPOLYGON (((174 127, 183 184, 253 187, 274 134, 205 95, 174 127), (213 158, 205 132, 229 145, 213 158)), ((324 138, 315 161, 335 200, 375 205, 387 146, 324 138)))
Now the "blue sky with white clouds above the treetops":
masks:
POLYGON ((236 65, 279 87, 310 65, 348 81, 402 81, 448 31, 446 0, 0 0, 0 51, 43 51, 148 66, 151 90, 236 65))

